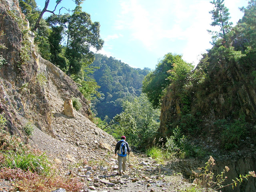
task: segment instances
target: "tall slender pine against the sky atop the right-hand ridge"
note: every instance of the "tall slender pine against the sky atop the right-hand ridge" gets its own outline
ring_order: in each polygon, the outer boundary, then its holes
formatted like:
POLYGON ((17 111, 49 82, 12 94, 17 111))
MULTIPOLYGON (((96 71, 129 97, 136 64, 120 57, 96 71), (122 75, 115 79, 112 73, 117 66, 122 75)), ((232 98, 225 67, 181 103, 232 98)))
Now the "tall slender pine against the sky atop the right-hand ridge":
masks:
POLYGON ((224 0, 213 0, 210 3, 214 5, 214 9, 209 12, 210 14, 212 14, 213 20, 211 26, 220 27, 219 32, 212 32, 211 30, 208 30, 209 33, 213 34, 212 44, 215 44, 218 38, 223 38, 224 40, 226 40, 226 34, 230 31, 232 22, 228 22, 230 17, 228 8, 226 8, 224 5, 224 0))

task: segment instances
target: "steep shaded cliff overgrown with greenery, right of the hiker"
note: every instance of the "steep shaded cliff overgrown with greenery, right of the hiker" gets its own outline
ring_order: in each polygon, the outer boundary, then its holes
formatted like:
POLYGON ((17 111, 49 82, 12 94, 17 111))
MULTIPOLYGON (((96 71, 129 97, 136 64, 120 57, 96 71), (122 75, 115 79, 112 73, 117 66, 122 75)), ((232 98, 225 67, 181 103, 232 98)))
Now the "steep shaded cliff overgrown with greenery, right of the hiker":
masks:
MULTIPOLYGON (((224 166, 230 168, 226 184, 256 170, 255 72, 255 51, 237 51, 221 42, 184 82, 171 84, 162 100, 160 136, 173 135, 178 126, 187 138, 190 155, 214 156, 214 173, 220 174, 224 166)), ((255 190, 252 178, 234 191, 255 190)))

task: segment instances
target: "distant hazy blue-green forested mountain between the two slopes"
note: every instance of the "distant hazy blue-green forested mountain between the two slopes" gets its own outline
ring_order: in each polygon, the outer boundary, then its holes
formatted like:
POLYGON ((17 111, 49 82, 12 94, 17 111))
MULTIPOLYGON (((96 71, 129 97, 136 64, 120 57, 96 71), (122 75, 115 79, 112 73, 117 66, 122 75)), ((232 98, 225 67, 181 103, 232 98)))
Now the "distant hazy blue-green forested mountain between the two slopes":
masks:
POLYGON ((149 68, 132 68, 120 60, 102 54, 95 54, 91 66, 96 68, 91 76, 100 86, 98 92, 101 94, 100 98, 92 101, 94 112, 107 121, 122 111, 124 100, 132 101, 135 96, 140 96, 142 80, 150 72, 149 68))

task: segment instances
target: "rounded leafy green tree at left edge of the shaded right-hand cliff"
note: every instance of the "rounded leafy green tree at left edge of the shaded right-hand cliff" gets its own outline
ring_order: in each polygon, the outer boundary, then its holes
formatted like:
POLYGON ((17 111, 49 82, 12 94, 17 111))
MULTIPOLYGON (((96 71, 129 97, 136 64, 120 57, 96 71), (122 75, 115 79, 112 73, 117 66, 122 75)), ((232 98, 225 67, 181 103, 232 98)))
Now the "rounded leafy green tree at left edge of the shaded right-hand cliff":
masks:
POLYGON ((168 53, 158 63, 156 69, 145 76, 143 80, 142 92, 146 93, 148 99, 154 107, 160 105, 164 90, 170 84, 168 71, 173 68, 174 63, 186 63, 181 55, 168 53))

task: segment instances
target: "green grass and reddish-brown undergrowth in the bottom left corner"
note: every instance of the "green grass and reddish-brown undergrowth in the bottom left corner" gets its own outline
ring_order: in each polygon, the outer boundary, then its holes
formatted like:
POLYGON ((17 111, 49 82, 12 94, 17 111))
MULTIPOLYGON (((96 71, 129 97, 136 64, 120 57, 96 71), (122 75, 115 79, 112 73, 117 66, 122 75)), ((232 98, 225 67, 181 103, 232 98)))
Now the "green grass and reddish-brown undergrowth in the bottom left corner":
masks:
POLYGON ((35 192, 64 188, 69 192, 82 190, 84 184, 77 178, 59 175, 46 154, 31 149, 4 129, 6 118, 0 114, 0 178, 10 180, 15 190, 35 192))

